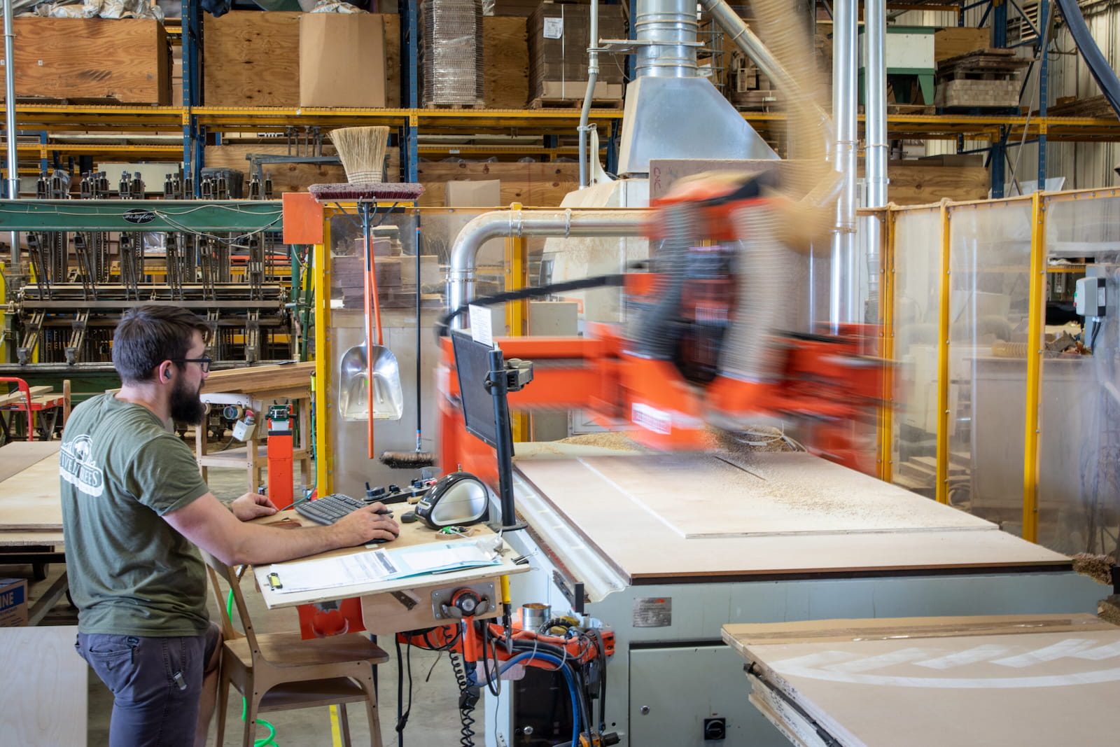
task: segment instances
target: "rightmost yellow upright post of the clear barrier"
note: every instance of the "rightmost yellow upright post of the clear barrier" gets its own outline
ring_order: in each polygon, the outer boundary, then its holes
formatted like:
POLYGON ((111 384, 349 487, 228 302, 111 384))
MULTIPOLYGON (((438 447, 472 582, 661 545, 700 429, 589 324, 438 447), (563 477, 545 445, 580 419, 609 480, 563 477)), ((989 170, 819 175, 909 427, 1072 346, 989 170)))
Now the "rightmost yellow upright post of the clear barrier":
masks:
POLYGON ((1043 351, 1046 348, 1046 203, 1036 192, 1030 200, 1030 293, 1027 319, 1027 395, 1023 441, 1023 539, 1038 541, 1038 402, 1043 351))

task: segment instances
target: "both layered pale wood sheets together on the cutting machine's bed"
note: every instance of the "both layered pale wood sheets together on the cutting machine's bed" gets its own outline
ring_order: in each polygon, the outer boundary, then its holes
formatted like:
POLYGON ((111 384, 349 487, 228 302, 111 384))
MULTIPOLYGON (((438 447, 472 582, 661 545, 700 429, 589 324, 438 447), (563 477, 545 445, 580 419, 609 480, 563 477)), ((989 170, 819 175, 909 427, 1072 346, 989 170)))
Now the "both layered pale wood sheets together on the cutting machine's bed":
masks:
POLYGON ((520 476, 629 583, 1071 564, 996 524, 804 452, 517 450, 520 476))

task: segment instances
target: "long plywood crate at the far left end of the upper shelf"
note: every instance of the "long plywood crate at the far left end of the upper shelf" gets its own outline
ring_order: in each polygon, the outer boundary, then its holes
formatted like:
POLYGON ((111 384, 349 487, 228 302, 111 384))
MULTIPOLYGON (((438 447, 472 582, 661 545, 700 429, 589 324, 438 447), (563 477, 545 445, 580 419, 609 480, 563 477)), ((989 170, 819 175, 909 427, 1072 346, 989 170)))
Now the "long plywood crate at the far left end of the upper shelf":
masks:
POLYGON ((17 100, 171 103, 171 50, 155 19, 16 18, 13 31, 17 100))

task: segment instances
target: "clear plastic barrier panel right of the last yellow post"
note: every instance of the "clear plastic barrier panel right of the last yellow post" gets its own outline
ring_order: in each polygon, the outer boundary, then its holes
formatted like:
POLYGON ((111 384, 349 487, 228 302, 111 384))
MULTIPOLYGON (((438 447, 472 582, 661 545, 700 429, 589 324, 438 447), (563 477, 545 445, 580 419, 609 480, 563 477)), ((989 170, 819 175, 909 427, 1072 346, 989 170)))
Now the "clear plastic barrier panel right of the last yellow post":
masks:
POLYGON ((1107 554, 1118 549, 1120 525, 1120 198, 1047 200, 1046 251, 1038 542, 1107 554), (1086 274, 1104 278, 1101 317, 1073 309, 1076 280, 1086 274))

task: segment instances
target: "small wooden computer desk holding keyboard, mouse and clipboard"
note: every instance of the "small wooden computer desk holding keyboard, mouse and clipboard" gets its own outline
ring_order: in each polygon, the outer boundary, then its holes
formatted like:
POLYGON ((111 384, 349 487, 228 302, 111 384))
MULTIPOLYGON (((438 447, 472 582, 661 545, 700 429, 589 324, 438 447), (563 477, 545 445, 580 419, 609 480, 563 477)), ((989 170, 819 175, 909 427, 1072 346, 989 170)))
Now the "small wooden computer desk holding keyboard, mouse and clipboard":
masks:
MULTIPOLYGON (((398 515, 408 510, 403 506, 403 504, 393 504, 390 507, 393 508, 398 515)), ((284 511, 276 514, 274 516, 269 516, 267 520, 258 521, 265 524, 272 524, 282 523, 286 520, 290 521, 292 519, 310 523, 308 520, 300 519, 295 511, 284 511)), ((493 532, 483 525, 476 524, 475 526, 472 526, 470 530, 472 533, 468 535, 470 538, 493 535, 493 532)), ((419 522, 412 524, 401 524, 401 535, 392 542, 386 542, 381 545, 381 549, 392 550, 402 547, 416 547, 430 542, 446 542, 449 539, 454 539, 454 535, 448 536, 446 534, 439 534, 419 522)), ((432 614, 430 597, 431 592, 438 589, 446 589, 448 587, 458 588, 467 585, 474 586, 476 583, 493 583, 495 592, 494 601, 500 603, 501 577, 523 573, 530 570, 530 566, 528 563, 521 566, 514 564, 513 558, 516 553, 507 544, 504 544, 504 549, 505 552, 502 555, 501 566, 468 568, 447 573, 426 573, 422 576, 412 576, 393 581, 372 581, 367 583, 340 586, 311 591, 293 591, 289 594, 273 591, 268 583, 269 566, 253 568, 253 576, 256 579, 256 585, 261 590, 264 604, 269 609, 361 597, 362 615, 365 620, 366 629, 375 635, 389 635, 400 633, 402 631, 418 631, 438 625, 447 625, 449 620, 438 620, 432 614)), ((343 550, 332 550, 330 552, 312 555, 310 558, 301 558, 300 560, 316 560, 318 558, 379 551, 380 549, 367 550, 365 548, 348 548, 343 550)), ((495 604, 489 613, 479 615, 478 619, 497 617, 501 613, 501 605, 495 604)))

